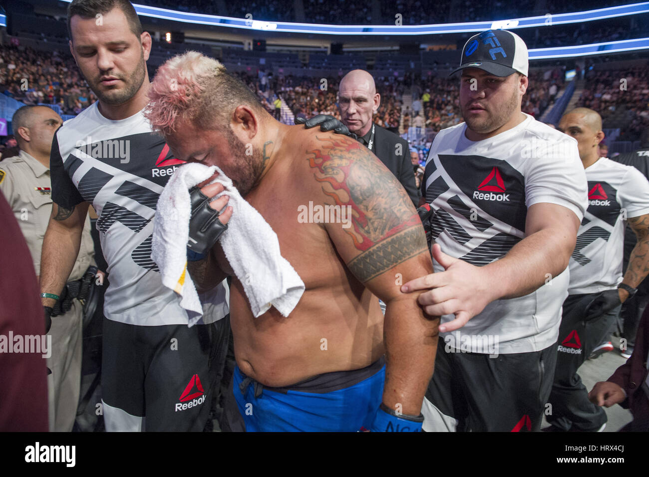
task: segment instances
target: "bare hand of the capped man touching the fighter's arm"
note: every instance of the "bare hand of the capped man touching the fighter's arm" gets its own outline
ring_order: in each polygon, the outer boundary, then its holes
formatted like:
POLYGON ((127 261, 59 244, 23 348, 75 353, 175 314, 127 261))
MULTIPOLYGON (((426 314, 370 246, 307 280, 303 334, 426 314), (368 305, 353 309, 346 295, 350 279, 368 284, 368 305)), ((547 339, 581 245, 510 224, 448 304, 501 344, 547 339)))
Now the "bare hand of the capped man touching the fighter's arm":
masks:
POLYGON ((424 311, 429 315, 454 314, 455 319, 440 325, 439 331, 457 330, 497 298, 493 294, 494 287, 483 267, 445 254, 439 244, 433 245, 432 253, 444 271, 415 278, 404 284, 401 291, 427 290, 419 295, 424 311))

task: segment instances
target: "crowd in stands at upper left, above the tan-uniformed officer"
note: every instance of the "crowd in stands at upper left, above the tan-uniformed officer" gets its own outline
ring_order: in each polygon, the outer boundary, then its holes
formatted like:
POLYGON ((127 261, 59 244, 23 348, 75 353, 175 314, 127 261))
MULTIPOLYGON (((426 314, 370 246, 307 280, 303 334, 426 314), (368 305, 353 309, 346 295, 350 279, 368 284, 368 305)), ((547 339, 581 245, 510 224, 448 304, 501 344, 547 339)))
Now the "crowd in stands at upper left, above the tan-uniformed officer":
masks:
POLYGON ((79 114, 97 101, 70 55, 0 45, 0 91, 25 104, 79 114))

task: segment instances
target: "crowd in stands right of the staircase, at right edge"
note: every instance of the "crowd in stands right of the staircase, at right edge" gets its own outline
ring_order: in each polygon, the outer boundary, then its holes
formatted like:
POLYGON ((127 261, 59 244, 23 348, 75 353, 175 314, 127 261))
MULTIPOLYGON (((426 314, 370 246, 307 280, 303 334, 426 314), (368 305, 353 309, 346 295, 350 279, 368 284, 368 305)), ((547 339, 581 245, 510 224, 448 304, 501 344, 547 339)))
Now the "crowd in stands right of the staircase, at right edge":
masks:
POLYGON ((620 127, 618 140, 639 140, 649 126, 649 70, 588 71, 578 106, 599 112, 605 128, 620 127))

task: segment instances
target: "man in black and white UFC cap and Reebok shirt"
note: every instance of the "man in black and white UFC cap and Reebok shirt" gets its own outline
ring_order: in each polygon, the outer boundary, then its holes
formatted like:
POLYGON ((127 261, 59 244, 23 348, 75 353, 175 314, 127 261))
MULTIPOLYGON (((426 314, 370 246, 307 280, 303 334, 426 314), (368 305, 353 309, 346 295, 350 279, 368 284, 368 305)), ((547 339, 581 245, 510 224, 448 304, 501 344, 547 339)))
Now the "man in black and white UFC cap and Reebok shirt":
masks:
POLYGON ((525 43, 485 31, 462 51, 465 123, 432 143, 422 195, 435 271, 404 284, 442 315, 426 431, 535 431, 556 362, 566 270, 587 208, 577 143, 520 110, 525 43))

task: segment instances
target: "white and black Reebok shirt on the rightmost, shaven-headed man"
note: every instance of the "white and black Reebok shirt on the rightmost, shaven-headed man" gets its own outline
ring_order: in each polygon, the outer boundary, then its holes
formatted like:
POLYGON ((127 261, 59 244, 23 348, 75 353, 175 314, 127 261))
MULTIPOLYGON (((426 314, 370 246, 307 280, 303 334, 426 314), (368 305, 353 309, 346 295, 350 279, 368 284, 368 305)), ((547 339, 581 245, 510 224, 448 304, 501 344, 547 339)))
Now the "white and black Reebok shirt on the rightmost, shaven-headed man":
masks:
POLYGON ((600 158, 586 168, 586 178, 588 209, 570 257, 570 295, 622 282, 624 220, 649 214, 649 182, 635 167, 600 158))

